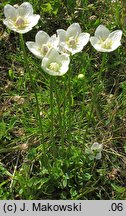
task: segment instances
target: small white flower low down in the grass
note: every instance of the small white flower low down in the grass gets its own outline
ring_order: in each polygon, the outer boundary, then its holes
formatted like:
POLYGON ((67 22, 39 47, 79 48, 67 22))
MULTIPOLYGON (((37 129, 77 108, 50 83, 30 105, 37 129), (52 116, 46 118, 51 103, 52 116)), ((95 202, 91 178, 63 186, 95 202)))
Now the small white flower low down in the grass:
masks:
POLYGON ((91 153, 97 160, 101 159, 101 151, 103 149, 103 145, 97 142, 93 143, 91 146, 91 153))

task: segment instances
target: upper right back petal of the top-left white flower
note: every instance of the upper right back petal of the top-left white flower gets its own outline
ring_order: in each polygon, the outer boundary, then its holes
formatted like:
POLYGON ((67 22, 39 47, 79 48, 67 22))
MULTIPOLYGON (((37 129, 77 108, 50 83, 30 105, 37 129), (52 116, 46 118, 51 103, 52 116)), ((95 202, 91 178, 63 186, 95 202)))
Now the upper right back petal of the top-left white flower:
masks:
POLYGON ((18 15, 21 17, 33 15, 33 8, 29 2, 24 2, 17 8, 18 15))

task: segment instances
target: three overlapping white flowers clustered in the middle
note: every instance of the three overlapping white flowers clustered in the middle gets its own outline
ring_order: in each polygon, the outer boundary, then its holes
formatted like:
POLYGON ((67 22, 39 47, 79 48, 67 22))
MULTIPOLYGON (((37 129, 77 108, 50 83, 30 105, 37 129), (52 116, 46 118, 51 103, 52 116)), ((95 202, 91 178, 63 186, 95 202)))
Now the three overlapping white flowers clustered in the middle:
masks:
POLYGON ((42 59, 42 68, 53 76, 64 75, 69 69, 70 54, 80 52, 89 41, 88 33, 81 33, 78 23, 65 31, 58 29, 51 37, 44 31, 36 34, 35 42, 26 43, 28 49, 42 59))

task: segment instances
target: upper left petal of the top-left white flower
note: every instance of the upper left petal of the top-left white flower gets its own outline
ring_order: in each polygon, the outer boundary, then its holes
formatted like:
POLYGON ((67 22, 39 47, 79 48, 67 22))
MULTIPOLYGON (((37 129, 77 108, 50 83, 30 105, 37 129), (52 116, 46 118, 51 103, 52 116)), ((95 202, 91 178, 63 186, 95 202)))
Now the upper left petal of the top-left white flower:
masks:
POLYGON ((13 21, 16 20, 16 17, 17 17, 16 8, 14 8, 13 6, 9 4, 5 5, 4 15, 9 20, 13 20, 13 21))

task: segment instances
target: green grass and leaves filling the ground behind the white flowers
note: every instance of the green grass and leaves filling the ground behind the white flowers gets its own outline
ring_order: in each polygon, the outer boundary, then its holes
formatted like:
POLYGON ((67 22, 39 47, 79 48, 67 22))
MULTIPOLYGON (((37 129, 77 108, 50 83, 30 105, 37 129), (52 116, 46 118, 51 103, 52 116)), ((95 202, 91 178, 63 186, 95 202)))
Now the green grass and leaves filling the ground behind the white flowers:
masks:
POLYGON ((2 24, 4 5, 17 2, 2 1, 0 199, 125 199, 125 5, 119 1, 110 6, 110 1, 104 0, 94 4, 87 0, 29 2, 41 20, 24 35, 25 41, 34 40, 39 29, 52 35, 58 28, 78 22, 91 36, 99 24, 122 29, 122 46, 103 55, 88 43, 71 58, 69 71, 53 79, 26 49, 43 142, 19 35, 2 24), (91 159, 88 153, 94 142, 103 144, 100 160, 91 159))

